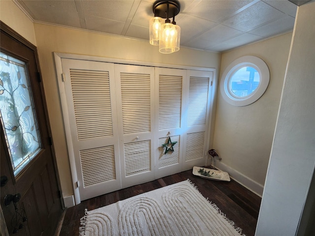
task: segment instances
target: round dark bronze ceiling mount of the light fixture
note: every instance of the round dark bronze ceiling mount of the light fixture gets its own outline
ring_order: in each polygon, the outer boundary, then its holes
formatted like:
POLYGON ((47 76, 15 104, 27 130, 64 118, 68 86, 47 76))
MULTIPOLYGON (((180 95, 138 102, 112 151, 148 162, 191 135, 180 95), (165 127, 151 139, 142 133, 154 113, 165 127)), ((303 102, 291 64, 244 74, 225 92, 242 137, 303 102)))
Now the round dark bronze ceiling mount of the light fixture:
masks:
POLYGON ((177 0, 172 1, 157 0, 153 3, 154 16, 158 16, 163 19, 175 17, 179 13, 180 8, 181 5, 177 0))

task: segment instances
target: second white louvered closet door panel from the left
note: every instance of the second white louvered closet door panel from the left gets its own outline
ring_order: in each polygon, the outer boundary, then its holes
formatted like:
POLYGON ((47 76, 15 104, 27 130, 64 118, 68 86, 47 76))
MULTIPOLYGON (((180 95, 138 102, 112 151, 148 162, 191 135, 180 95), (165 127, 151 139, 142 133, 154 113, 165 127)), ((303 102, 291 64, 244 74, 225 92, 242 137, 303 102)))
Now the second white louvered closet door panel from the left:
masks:
POLYGON ((154 180, 154 68, 115 64, 122 186, 154 180))

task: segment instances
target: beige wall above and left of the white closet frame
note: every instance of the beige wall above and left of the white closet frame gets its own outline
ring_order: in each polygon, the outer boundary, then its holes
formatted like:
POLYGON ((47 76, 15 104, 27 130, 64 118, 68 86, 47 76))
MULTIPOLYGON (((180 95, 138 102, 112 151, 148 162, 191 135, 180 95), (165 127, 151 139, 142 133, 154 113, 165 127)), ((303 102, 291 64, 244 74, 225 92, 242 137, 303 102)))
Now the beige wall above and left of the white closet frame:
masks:
POLYGON ((211 68, 219 68, 221 61, 217 53, 181 48, 177 53, 163 55, 147 41, 83 30, 43 24, 34 24, 34 29, 64 197, 72 195, 73 188, 53 52, 211 68))

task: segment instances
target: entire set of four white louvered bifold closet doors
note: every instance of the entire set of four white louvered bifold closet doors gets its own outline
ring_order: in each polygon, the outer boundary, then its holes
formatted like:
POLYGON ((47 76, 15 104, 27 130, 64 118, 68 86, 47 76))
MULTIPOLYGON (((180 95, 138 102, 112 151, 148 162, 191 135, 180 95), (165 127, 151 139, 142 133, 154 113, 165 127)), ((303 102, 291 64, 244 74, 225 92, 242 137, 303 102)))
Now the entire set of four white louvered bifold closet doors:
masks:
POLYGON ((206 163, 212 71, 80 59, 62 67, 81 201, 206 163))

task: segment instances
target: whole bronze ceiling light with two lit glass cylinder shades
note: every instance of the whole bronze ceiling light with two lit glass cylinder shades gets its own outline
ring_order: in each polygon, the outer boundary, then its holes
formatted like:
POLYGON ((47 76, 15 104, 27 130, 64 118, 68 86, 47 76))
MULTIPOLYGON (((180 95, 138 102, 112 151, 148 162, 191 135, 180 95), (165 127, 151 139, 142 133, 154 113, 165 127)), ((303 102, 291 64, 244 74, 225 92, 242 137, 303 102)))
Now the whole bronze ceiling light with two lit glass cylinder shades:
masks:
POLYGON ((179 50, 181 28, 176 25, 179 1, 158 0, 153 3, 154 17, 150 20, 150 44, 158 45, 160 53, 174 53, 179 50), (162 18, 166 19, 162 24, 162 18), (171 23, 169 18, 173 18, 171 23))

